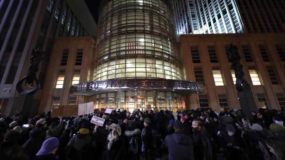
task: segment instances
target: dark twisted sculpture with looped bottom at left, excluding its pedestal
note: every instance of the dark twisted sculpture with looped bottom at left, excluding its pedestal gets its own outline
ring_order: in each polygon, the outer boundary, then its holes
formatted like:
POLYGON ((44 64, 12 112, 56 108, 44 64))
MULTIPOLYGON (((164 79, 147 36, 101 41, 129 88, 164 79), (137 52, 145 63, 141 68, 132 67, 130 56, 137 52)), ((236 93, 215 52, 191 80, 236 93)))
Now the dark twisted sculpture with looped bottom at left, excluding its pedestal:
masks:
POLYGON ((34 95, 40 89, 40 83, 36 78, 36 73, 38 72, 38 64, 40 63, 40 61, 42 61, 44 53, 45 52, 43 50, 40 50, 39 48, 32 49, 30 53, 32 57, 30 58, 29 71, 27 75, 24 78, 22 78, 16 85, 16 89, 21 95, 34 95), (36 87, 34 87, 31 90, 23 89, 22 84, 25 80, 27 81, 28 85, 32 84, 32 82, 35 80, 36 87))

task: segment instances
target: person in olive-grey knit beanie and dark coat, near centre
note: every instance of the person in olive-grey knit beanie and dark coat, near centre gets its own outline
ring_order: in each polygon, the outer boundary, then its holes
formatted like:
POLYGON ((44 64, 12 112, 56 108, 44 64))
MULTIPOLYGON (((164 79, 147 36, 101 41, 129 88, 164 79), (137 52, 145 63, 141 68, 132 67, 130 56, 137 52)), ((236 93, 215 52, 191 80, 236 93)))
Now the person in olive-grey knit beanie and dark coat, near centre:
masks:
POLYGON ((154 148, 152 146, 152 130, 150 118, 144 119, 144 129, 142 131, 143 149, 148 159, 154 159, 154 148))

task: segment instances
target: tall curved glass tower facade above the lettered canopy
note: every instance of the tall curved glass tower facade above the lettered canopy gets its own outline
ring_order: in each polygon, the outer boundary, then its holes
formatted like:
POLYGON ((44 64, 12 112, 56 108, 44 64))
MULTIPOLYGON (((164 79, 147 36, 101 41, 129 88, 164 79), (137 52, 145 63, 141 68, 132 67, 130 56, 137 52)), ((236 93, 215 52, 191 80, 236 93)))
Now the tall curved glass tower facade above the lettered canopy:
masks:
POLYGON ((106 0, 99 15, 94 81, 181 79, 167 1, 106 0))

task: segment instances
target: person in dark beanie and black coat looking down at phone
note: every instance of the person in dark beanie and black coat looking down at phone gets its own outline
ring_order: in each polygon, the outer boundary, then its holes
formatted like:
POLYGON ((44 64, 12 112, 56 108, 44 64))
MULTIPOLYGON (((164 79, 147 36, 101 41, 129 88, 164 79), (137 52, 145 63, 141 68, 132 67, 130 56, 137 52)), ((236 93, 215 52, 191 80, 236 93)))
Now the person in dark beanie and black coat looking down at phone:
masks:
POLYGON ((228 124, 226 127, 227 134, 223 135, 226 148, 226 157, 231 160, 248 159, 248 147, 245 140, 235 133, 235 127, 228 124))

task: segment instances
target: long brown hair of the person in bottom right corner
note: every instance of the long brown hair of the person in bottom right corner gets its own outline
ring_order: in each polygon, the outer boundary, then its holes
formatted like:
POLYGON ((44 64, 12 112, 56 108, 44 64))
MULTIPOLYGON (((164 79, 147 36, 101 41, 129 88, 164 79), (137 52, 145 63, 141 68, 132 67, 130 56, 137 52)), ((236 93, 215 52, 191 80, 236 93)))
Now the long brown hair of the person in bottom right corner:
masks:
POLYGON ((274 149, 277 160, 285 159, 285 140, 277 137, 270 137, 266 139, 266 144, 274 149))

